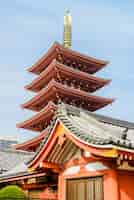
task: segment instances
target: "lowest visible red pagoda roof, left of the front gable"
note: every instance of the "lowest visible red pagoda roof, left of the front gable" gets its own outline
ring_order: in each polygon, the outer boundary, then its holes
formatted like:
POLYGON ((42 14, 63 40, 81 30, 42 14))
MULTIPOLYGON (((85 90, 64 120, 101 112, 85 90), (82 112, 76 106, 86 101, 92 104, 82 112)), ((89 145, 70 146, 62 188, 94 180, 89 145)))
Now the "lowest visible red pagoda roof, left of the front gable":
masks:
POLYGON ((48 134, 48 129, 45 129, 40 133, 40 135, 38 135, 28 141, 25 141, 23 143, 14 145, 13 147, 16 150, 27 150, 28 151, 29 148, 33 148, 36 146, 38 147, 39 143, 45 138, 45 136, 47 134, 48 134))

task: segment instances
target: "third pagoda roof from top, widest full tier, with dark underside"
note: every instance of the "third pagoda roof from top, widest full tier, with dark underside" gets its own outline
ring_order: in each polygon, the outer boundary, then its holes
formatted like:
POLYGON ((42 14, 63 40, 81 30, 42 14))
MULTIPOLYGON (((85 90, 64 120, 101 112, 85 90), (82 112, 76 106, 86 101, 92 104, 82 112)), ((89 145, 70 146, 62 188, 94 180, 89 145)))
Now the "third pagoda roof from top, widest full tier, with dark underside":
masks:
POLYGON ((52 79, 36 96, 22 104, 22 108, 40 111, 49 101, 57 103, 59 100, 82 106, 89 111, 96 111, 114 101, 114 99, 90 95, 85 91, 63 85, 52 79))

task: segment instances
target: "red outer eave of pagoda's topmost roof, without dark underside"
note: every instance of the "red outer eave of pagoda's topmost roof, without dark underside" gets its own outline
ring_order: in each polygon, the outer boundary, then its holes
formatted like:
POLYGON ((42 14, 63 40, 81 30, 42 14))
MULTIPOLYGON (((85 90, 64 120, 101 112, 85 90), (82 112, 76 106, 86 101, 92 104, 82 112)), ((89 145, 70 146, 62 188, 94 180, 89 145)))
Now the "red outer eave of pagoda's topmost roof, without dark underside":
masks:
MULTIPOLYGON (((77 59, 85 62, 85 63, 90 63, 98 66, 98 70, 100 70, 102 67, 106 66, 109 62, 108 61, 103 61, 100 59, 96 59, 90 56, 83 55, 79 52, 76 52, 74 50, 65 48, 63 45, 59 44, 58 42, 55 42, 50 49, 47 51, 47 53, 39 59, 32 67, 28 69, 29 72, 35 73, 35 74, 40 74, 40 71, 42 68, 44 68, 45 63, 46 66, 49 64, 49 61, 55 58, 55 55, 58 54, 58 52, 66 53, 71 55, 72 57, 77 57, 77 59), (41 65, 43 63, 43 66, 41 65)), ((50 61, 51 62, 51 61, 50 61)), ((45 66, 45 67, 46 67, 45 66)))

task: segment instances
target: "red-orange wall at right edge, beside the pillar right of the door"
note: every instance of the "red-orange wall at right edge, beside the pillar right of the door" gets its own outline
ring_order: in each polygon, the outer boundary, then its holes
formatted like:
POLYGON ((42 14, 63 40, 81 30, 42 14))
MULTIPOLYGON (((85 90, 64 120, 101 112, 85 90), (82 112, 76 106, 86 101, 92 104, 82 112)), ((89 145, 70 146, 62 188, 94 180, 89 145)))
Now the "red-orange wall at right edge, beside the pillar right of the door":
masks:
POLYGON ((120 200, 134 200, 134 172, 118 175, 120 200))

